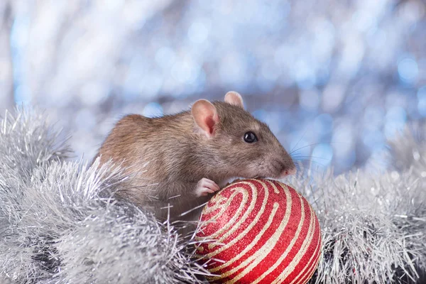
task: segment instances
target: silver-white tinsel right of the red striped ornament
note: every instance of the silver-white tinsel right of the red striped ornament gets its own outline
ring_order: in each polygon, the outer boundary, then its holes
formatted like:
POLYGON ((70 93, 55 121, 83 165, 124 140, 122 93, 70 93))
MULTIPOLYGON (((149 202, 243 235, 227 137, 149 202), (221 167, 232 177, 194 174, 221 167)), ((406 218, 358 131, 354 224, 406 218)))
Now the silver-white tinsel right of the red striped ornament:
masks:
MULTIPOLYGON (((391 169, 305 170, 291 183, 320 219, 322 259, 311 283, 426 283, 426 141, 391 142, 391 169)), ((418 132, 422 131, 422 132, 418 132)))

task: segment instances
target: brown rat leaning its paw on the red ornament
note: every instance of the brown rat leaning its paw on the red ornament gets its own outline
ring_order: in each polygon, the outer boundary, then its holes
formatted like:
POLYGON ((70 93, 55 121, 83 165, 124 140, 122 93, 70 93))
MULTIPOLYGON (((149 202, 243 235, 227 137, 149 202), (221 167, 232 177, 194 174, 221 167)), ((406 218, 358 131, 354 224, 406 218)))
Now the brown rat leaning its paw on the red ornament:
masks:
POLYGON ((117 195, 153 209, 160 221, 197 221, 202 204, 232 178, 296 173, 288 152, 244 109, 237 92, 226 93, 224 102, 199 99, 178 114, 124 116, 97 157, 100 165, 111 159, 130 175, 117 195))

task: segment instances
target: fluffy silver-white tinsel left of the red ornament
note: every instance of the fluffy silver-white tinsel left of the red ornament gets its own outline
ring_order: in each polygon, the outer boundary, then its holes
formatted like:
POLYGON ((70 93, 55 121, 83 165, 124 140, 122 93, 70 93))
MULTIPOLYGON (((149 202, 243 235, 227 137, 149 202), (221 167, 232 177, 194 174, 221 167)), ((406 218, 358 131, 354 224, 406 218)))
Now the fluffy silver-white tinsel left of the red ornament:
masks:
POLYGON ((65 161, 45 118, 6 114, 0 131, 0 282, 200 282, 184 241, 112 197, 122 179, 65 161))

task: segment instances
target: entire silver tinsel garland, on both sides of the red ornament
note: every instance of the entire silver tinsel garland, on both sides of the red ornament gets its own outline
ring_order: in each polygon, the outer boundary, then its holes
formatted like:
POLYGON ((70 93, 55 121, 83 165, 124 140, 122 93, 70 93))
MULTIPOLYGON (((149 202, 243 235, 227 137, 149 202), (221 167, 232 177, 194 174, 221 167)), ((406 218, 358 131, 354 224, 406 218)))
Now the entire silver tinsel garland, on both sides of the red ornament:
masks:
MULTIPOLYGON (((119 170, 68 161, 45 116, 17 113, 0 124, 1 283, 200 283, 188 241, 114 200, 119 170)), ((406 133, 390 153, 386 173, 307 169, 285 181, 322 226, 312 283, 425 280, 426 141, 406 133)))

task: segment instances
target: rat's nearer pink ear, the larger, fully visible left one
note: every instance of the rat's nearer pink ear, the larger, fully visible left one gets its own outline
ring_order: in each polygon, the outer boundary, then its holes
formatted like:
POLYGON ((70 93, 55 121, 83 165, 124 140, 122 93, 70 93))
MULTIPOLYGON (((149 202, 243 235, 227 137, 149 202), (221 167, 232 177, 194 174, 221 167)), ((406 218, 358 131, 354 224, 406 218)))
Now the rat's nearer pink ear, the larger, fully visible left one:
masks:
POLYGON ((197 124, 207 138, 211 138, 214 135, 214 128, 219 122, 216 107, 207 101, 207 99, 199 99, 192 104, 191 114, 195 124, 197 124))

